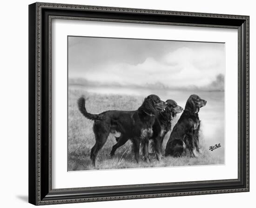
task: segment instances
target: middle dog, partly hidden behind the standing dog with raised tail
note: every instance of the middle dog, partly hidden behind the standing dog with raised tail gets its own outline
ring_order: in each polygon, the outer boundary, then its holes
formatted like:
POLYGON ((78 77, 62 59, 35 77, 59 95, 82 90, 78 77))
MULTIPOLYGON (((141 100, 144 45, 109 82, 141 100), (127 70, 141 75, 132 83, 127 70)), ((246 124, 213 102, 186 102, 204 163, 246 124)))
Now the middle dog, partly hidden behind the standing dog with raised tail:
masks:
MULTIPOLYGON (((177 113, 181 113, 183 110, 183 108, 178 106, 177 103, 173 100, 167 100, 166 103, 167 106, 165 111, 160 111, 156 115, 155 123, 152 127, 153 134, 150 138, 153 140, 152 146, 153 150, 155 151, 157 160, 161 159, 163 139, 168 131, 171 130, 172 120, 175 118, 177 113)), ((110 153, 111 156, 115 155, 115 151, 118 147, 124 145, 128 141, 128 138, 123 137, 122 135, 120 137, 115 137, 115 139, 117 144, 113 146, 110 153)))

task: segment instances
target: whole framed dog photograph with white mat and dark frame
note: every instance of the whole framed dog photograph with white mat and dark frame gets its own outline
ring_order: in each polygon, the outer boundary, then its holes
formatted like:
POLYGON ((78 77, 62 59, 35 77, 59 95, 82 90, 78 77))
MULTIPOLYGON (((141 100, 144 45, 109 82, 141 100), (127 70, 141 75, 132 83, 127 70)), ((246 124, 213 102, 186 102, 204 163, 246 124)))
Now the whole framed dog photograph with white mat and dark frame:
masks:
POLYGON ((249 191, 249 16, 29 5, 29 202, 249 191))

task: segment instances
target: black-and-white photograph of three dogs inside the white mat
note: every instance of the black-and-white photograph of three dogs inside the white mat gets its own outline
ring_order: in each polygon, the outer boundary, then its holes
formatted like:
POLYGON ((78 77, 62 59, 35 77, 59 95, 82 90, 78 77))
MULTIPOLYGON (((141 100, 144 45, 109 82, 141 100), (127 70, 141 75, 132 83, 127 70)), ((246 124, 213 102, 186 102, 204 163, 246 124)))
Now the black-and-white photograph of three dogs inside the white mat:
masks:
POLYGON ((68 171, 225 164, 225 43, 67 47, 68 171))

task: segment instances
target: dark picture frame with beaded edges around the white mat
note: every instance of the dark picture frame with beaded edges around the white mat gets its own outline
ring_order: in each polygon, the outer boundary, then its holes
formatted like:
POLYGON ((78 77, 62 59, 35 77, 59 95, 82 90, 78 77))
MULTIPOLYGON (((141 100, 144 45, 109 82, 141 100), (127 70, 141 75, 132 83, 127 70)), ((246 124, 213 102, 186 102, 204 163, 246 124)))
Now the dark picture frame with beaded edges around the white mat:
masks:
POLYGON ((29 202, 35 205, 249 191, 249 16, 118 7, 29 5, 29 202), (238 30, 238 178, 51 188, 51 20, 86 19, 238 30))

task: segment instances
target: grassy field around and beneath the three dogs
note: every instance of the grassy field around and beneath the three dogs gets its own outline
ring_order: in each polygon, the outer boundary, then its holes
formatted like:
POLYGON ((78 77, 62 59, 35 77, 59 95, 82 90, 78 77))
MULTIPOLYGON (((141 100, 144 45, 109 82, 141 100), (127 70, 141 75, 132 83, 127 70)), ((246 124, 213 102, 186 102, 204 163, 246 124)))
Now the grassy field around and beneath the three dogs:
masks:
MULTIPOLYGON (((78 110, 77 99, 84 95, 86 108, 90 113, 101 113, 106 110, 136 110, 142 103, 143 97, 129 95, 100 95, 88 93, 79 87, 70 87, 68 91, 68 170, 95 170, 95 169, 123 169, 123 168, 145 168, 145 167, 167 167, 167 166, 188 166, 223 164, 223 157, 209 153, 202 136, 202 155, 198 158, 165 157, 157 161, 155 155, 150 155, 150 163, 145 163, 141 158, 139 164, 135 163, 134 154, 131 149, 131 142, 128 141, 115 152, 115 158, 110 157, 112 146, 115 145, 115 135, 110 134, 106 144, 99 151, 96 168, 90 161, 90 151, 95 143, 92 130, 93 121, 88 120, 78 110)), ((175 122, 179 116, 177 116, 175 122)), ((203 131, 203 130, 202 130, 203 131)), ((163 150, 169 134, 164 139, 163 150)), ((151 152, 151 150, 150 150, 151 152)))

